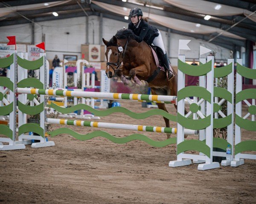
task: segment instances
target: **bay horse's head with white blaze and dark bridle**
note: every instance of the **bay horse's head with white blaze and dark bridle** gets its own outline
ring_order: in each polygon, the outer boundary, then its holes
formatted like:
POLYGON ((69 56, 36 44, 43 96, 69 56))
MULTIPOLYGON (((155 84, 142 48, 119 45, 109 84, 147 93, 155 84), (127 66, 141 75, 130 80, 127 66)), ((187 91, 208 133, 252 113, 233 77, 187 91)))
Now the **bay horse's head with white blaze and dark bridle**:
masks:
POLYGON ((107 46, 105 56, 107 58, 106 75, 108 78, 112 78, 115 75, 116 69, 122 63, 122 47, 118 45, 115 36, 110 41, 102 38, 104 44, 107 46))

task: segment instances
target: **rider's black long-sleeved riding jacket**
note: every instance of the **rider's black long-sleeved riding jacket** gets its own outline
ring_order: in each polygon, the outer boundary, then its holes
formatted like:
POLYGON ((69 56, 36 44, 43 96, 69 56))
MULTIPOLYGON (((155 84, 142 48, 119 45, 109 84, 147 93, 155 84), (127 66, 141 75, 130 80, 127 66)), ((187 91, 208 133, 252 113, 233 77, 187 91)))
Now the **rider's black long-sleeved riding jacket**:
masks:
POLYGON ((157 37, 158 30, 154 26, 149 26, 148 23, 145 20, 140 20, 139 26, 134 26, 133 23, 129 23, 128 29, 132 30, 134 34, 136 35, 135 40, 137 42, 145 41, 149 45, 152 44, 155 37, 157 37))

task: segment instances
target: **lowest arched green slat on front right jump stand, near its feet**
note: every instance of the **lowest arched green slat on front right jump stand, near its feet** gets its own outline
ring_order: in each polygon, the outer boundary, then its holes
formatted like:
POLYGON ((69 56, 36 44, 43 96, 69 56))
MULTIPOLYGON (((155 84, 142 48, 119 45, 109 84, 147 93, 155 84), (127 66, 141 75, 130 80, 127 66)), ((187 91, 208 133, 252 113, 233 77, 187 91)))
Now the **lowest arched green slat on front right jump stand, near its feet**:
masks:
POLYGON ((195 150, 210 157, 210 147, 200 140, 185 140, 177 145, 177 155, 188 150, 195 150))

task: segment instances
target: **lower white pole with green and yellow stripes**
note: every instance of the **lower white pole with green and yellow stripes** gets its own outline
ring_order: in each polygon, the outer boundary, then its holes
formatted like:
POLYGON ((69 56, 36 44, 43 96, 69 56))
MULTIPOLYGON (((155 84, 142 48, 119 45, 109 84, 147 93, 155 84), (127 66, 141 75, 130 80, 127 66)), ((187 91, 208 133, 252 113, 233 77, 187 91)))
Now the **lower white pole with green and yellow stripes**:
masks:
MULTIPOLYGON (((119 123, 90 122, 90 121, 83 121, 83 120, 68 120, 68 119, 55 119, 55 118, 47 118, 46 122, 49 123, 49 124, 58 124, 58 125, 74 125, 74 126, 84 126, 84 127, 102 127, 102 128, 120 129, 120 130, 137 130, 137 131, 144 131, 144 132, 177 134, 177 128, 174 128, 174 127, 128 125, 128 124, 119 124, 119 123)), ((198 135, 198 130, 184 129, 184 134, 186 134, 186 135, 198 135)))

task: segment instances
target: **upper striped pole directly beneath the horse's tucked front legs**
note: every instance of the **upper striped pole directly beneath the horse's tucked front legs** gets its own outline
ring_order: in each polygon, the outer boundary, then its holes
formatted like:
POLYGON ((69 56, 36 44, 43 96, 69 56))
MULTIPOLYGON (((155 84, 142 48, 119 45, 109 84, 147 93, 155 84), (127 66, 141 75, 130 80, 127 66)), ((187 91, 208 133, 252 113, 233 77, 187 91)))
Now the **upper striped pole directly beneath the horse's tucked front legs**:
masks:
POLYGON ((118 94, 118 93, 102 93, 90 91, 66 91, 58 89, 36 89, 36 88, 17 88, 17 93, 20 94, 41 94, 49 96, 69 96, 69 97, 87 97, 95 99, 125 99, 134 101, 151 101, 172 103, 177 96, 162 96, 162 95, 146 95, 146 94, 118 94))

